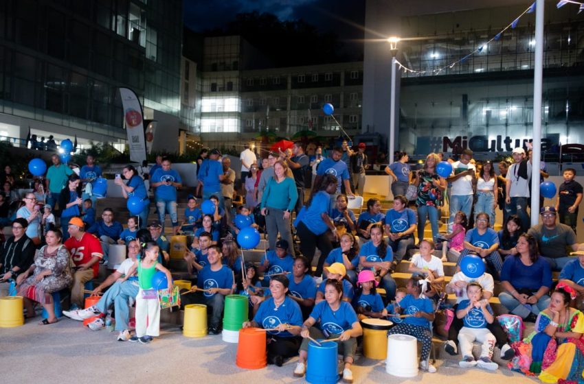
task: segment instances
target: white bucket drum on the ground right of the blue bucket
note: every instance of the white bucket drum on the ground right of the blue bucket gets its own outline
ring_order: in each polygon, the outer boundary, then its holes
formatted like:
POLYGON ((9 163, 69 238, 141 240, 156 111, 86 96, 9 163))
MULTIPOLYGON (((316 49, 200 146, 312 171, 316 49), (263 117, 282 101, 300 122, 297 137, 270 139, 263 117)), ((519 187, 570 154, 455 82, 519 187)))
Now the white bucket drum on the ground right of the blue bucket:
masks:
POLYGON ((385 372, 398 377, 414 377, 418 374, 418 343, 409 335, 388 337, 388 358, 385 372))

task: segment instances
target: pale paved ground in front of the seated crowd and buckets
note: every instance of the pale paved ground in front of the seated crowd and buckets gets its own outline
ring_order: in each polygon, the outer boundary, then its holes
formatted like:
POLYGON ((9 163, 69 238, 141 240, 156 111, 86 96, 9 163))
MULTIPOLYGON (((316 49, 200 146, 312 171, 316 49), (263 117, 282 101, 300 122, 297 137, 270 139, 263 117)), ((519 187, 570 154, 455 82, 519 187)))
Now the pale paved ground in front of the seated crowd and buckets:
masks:
MULTIPOLYGON (((221 335, 183 337, 177 326, 164 325, 161 337, 148 345, 116 341, 117 333, 89 331, 63 318, 38 326, 38 317, 18 328, 0 328, 0 372, 3 383, 303 383, 292 371, 296 359, 282 368, 268 365, 243 370, 235 365, 236 344, 221 335)), ((455 360, 437 362, 438 373, 401 379, 385 373, 383 361, 361 358, 353 369, 355 383, 536 383, 507 369, 461 370, 455 360)))

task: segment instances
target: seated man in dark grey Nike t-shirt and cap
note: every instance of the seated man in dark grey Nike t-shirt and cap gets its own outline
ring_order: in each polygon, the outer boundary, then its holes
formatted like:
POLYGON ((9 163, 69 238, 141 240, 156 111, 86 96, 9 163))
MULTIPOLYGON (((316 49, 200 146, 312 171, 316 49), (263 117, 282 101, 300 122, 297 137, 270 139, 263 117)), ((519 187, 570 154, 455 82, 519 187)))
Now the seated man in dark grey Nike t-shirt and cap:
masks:
POLYGON ((537 240, 539 254, 550 263, 552 271, 561 271, 570 260, 574 260, 568 256, 566 248, 582 251, 584 244, 576 243, 572 228, 556 222, 556 208, 553 206, 542 207, 539 215, 543 224, 532 226, 527 233, 537 240))

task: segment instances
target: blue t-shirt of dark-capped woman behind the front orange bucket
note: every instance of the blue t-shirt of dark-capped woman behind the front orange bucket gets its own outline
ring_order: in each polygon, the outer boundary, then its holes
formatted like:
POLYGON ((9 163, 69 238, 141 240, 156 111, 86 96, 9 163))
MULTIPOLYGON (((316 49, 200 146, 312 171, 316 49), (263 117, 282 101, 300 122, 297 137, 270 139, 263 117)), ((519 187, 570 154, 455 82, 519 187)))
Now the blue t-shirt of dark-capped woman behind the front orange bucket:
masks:
MULTIPOLYGON (((300 305, 289 297, 284 298, 284 302, 278 308, 273 303, 273 298, 269 298, 260 305, 254 316, 254 322, 264 329, 276 328, 280 324, 302 326, 302 311, 300 311, 300 305)), ((280 337, 293 337, 288 331, 268 331, 268 333, 280 337)))

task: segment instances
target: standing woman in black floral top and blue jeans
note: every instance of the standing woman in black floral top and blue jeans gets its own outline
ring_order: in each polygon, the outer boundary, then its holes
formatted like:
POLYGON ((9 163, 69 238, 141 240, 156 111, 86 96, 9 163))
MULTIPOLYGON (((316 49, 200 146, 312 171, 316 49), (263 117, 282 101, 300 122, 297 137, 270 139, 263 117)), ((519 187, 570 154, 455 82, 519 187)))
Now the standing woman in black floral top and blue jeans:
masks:
POLYGON ((418 207, 418 241, 424 239, 426 219, 430 220, 432 238, 438 236, 438 206, 442 201, 442 193, 446 189, 446 180, 436 173, 439 158, 437 154, 426 157, 424 168, 416 172, 414 185, 418 187, 416 206, 418 207))

